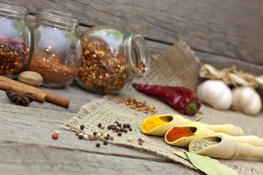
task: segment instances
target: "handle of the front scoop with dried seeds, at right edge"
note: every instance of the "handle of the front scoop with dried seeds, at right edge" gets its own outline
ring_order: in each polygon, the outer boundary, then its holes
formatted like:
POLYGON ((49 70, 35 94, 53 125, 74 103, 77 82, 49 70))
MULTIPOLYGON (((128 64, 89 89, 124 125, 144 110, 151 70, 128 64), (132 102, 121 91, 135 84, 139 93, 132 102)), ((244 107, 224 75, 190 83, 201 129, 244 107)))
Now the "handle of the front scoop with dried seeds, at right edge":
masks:
POLYGON ((257 147, 248 143, 240 143, 240 157, 257 157, 263 159, 263 147, 257 147))

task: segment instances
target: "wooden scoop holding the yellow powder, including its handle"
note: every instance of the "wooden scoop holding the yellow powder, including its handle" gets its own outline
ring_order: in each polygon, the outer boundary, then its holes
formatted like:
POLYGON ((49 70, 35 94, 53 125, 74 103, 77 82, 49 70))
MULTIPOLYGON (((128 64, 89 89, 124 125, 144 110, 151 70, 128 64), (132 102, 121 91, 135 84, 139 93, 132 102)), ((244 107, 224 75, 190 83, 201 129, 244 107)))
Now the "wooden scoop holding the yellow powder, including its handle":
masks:
POLYGON ((236 127, 232 124, 209 125, 209 124, 204 124, 201 122, 191 122, 188 119, 185 119, 182 116, 176 115, 176 114, 163 114, 163 115, 157 115, 157 116, 150 116, 142 122, 141 130, 145 134, 164 136, 170 128, 174 126, 188 125, 188 124, 203 125, 203 126, 206 126, 208 129, 213 130, 214 132, 225 133, 231 136, 243 136, 242 128, 236 127), (147 120, 150 120, 151 118, 154 118, 154 117, 160 117, 162 120, 167 121, 168 123, 159 125, 151 129, 150 131, 146 131, 143 128, 143 123, 145 123, 147 120))

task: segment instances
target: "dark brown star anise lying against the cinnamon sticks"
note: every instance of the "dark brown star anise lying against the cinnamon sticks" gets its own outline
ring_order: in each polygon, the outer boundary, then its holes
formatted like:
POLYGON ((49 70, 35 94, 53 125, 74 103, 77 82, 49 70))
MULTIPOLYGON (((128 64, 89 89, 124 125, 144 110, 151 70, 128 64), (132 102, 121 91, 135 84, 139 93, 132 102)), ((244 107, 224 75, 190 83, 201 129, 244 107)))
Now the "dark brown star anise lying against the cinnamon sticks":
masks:
POLYGON ((6 96, 17 105, 27 106, 35 100, 30 92, 19 93, 15 90, 5 91, 6 96))

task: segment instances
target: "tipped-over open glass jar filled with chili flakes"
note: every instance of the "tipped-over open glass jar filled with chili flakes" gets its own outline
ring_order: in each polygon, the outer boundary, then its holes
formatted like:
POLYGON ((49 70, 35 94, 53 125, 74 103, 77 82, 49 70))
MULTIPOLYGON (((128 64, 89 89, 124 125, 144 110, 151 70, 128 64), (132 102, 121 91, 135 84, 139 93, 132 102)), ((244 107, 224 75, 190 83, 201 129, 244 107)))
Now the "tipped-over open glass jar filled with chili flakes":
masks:
POLYGON ((144 38, 108 26, 94 27, 82 37, 82 59, 76 82, 84 89, 113 94, 133 77, 150 70, 150 53, 144 38))

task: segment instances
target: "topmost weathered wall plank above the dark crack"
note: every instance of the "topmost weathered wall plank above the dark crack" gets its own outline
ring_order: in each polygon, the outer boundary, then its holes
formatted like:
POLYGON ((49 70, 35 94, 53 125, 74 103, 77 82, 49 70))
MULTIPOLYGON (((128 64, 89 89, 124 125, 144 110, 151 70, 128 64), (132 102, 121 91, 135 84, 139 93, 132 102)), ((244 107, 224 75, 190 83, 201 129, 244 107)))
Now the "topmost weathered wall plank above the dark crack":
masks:
POLYGON ((15 0, 71 13, 88 26, 113 25, 127 33, 263 65, 262 0, 15 0))

